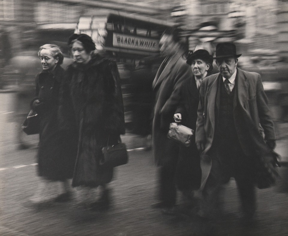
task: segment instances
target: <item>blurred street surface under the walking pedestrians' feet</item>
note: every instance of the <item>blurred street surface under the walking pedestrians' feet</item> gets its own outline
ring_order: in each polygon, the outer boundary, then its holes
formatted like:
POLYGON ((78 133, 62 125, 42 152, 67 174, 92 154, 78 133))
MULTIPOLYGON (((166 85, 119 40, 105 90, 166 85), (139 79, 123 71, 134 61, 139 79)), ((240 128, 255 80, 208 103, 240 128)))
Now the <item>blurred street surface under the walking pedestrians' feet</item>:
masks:
MULTIPOLYGON (((112 200, 109 210, 91 211, 88 207, 99 198, 100 189, 71 188, 71 202, 55 203, 53 199, 62 191, 60 183, 42 181, 37 175, 38 136, 26 136, 31 148, 17 150, 15 135, 19 124, 8 118, 11 112, 9 96, 0 93, 1 236, 288 235, 287 165, 279 168, 281 178, 277 185, 256 190, 258 208, 254 227, 247 228, 240 223, 240 205, 233 179, 225 186, 223 214, 219 214, 216 223, 202 222, 195 217, 193 209, 197 209, 199 199, 195 199, 189 214, 179 211, 176 215, 164 215, 151 208, 157 201, 158 172, 150 140, 129 132, 122 136, 129 163, 115 168, 113 181, 109 184, 112 200), (41 196, 46 199, 40 205, 30 201, 39 186, 41 196)), ((277 141, 275 151, 285 161, 288 156, 287 127, 277 124, 276 129, 281 139, 277 141)), ((199 193, 196 196, 200 196, 199 193)), ((177 203, 182 204, 180 196, 177 203)))

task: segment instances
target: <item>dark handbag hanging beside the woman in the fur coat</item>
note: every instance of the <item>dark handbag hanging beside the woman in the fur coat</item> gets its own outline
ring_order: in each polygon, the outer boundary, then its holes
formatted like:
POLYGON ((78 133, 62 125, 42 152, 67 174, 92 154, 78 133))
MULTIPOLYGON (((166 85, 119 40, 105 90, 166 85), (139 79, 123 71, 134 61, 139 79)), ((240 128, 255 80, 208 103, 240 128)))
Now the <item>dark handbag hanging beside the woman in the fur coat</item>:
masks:
POLYGON ((116 167, 128 163, 128 152, 126 145, 119 142, 112 146, 102 148, 103 157, 100 160, 100 165, 116 167))

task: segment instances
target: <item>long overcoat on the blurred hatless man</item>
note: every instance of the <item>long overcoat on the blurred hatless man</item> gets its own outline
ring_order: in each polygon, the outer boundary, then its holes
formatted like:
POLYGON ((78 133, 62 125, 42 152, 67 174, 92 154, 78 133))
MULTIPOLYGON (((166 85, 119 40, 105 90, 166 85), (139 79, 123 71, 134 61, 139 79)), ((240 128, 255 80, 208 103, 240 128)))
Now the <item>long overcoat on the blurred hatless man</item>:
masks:
POLYGON ((174 114, 180 102, 180 89, 186 79, 193 76, 191 67, 182 57, 183 52, 166 60, 161 64, 153 81, 153 94, 155 99, 154 118, 152 125, 152 142, 156 163, 161 166, 169 162, 171 154, 175 153, 178 144, 167 138, 170 123, 174 122, 174 114))

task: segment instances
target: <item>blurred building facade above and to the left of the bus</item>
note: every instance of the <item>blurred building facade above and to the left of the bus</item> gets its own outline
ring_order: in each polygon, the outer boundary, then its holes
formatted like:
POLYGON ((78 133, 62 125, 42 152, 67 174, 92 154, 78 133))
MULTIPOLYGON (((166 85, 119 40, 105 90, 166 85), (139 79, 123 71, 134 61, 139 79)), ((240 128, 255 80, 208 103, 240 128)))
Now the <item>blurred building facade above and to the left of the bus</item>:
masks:
POLYGON ((75 28, 81 15, 97 15, 108 10, 170 19, 169 1, 146 0, 2 0, 0 1, 0 29, 9 33, 12 53, 17 54, 33 41, 39 27, 75 28))

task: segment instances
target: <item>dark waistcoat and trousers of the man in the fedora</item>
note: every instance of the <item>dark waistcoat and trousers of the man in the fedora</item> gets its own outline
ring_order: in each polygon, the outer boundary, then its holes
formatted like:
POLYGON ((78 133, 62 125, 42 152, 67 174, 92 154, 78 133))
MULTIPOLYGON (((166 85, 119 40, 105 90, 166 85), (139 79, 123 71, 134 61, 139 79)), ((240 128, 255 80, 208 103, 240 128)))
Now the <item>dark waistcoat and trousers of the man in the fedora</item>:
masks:
POLYGON ((221 186, 234 177, 244 215, 252 218, 256 209, 253 158, 247 157, 243 153, 238 141, 233 118, 235 87, 228 95, 221 78, 220 91, 218 90, 220 92, 220 108, 219 113, 215 116, 217 117, 215 138, 210 150, 212 166, 203 189, 202 207, 204 211, 208 211, 208 214, 215 215, 221 186))

